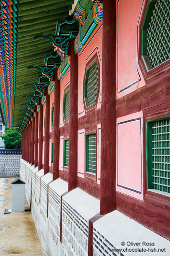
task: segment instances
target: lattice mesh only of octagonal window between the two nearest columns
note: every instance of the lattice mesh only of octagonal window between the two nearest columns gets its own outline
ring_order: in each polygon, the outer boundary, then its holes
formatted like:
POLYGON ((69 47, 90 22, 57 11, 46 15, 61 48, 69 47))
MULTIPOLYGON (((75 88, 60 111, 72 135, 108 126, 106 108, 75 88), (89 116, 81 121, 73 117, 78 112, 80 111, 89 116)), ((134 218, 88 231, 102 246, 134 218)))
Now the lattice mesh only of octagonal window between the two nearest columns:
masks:
POLYGON ((88 106, 96 102, 98 87, 99 87, 99 70, 98 70, 97 64, 95 64, 88 73, 88 80, 87 80, 88 106))

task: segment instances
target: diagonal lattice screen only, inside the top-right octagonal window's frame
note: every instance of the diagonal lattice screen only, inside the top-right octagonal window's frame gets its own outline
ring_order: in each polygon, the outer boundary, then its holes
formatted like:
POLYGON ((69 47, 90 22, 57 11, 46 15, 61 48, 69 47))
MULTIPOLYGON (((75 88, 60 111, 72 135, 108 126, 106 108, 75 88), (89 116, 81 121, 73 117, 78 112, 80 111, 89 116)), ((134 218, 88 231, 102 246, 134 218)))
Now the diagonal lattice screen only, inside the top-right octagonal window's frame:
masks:
POLYGON ((147 56, 155 68, 170 58, 170 0, 157 0, 147 31, 147 56))

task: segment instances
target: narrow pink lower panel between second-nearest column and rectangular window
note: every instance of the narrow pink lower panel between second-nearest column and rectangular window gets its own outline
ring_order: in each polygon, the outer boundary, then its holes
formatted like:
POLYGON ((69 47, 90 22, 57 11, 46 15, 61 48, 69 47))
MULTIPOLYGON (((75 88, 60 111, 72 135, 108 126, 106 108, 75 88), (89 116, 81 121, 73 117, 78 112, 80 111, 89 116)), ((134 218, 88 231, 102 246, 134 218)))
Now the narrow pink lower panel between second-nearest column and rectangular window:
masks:
POLYGON ((85 130, 78 130, 78 176, 85 174, 85 130))

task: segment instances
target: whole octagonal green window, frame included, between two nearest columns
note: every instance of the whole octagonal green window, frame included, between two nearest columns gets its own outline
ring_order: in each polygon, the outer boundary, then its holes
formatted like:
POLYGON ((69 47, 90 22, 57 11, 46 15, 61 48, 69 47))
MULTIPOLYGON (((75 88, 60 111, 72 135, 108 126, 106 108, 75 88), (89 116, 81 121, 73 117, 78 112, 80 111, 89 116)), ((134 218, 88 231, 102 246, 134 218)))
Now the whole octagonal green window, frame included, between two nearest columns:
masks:
POLYGON ((86 71, 84 84, 84 100, 86 107, 96 102, 99 88, 99 69, 95 61, 86 71))

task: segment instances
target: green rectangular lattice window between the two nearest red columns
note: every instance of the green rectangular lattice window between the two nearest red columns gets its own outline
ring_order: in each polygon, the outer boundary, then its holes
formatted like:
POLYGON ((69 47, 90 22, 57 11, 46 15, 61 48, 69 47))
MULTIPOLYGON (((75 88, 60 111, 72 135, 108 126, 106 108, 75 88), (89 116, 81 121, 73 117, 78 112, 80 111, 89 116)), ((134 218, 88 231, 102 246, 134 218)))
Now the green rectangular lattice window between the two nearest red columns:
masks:
POLYGON ((86 172, 96 173, 96 134, 86 135, 86 172))

